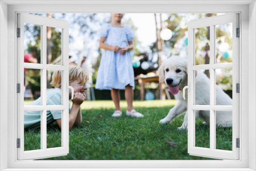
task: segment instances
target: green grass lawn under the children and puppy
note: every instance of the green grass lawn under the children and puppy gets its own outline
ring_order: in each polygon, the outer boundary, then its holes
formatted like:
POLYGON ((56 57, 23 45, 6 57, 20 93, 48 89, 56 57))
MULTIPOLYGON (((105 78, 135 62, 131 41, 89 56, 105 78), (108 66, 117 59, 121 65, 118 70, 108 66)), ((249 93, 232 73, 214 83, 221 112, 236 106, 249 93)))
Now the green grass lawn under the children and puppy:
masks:
MULTIPOLYGON (((144 118, 131 118, 125 115, 126 102, 121 101, 122 117, 112 118, 112 101, 85 101, 81 105, 82 124, 70 130, 69 154, 45 160, 209 160, 187 153, 187 132, 177 131, 184 114, 171 124, 159 123, 176 102, 134 101, 135 110, 144 118)), ((217 133, 217 147, 231 150, 232 129, 218 128, 217 133)), ((47 140, 47 147, 61 146, 56 122, 47 126, 47 140)), ((209 126, 201 119, 196 124, 196 146, 209 147, 209 126)), ((39 148, 40 130, 25 131, 25 149, 39 148)))

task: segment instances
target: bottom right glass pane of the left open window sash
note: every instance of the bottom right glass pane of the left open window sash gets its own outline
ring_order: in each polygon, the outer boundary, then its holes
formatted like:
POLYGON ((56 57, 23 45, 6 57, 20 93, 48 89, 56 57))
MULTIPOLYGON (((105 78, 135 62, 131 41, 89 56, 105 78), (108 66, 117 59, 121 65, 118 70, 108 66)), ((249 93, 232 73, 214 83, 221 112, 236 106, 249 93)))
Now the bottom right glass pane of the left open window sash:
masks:
POLYGON ((62 111, 47 111, 47 148, 61 147, 61 130, 55 119, 62 118, 62 111))

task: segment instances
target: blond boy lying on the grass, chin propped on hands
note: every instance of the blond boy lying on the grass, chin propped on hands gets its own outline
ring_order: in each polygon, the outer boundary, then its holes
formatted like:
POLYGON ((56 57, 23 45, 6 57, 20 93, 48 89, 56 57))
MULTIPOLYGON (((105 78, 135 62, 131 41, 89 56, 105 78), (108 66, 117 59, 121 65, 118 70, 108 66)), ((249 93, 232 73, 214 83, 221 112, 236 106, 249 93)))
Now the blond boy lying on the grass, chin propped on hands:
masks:
MULTIPOLYGON (((69 67, 69 85, 74 88, 74 98, 72 108, 69 109, 69 129, 73 125, 80 125, 82 122, 82 114, 80 105, 86 99, 85 91, 87 90, 86 81, 88 75, 86 71, 78 66, 69 67)), ((47 105, 61 105, 61 71, 54 71, 52 76, 52 83, 55 89, 47 90, 47 105)), ((69 99, 71 99, 71 90, 69 92, 69 99)), ((28 105, 41 105, 41 98, 39 97, 28 105)), ((40 111, 25 111, 24 112, 24 128, 38 128, 41 121, 40 111)), ((47 111, 47 124, 57 121, 61 129, 61 110, 47 111)))

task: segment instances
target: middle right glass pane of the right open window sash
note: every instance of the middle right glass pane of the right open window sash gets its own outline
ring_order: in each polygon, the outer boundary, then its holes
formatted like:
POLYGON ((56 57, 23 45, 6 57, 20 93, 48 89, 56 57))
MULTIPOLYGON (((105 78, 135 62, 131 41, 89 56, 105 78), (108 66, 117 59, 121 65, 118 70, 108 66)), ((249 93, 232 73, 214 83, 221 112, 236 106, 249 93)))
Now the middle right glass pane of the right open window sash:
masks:
POLYGON ((216 69, 216 105, 232 105, 232 69, 216 69), (224 93, 221 91, 224 91, 224 93))

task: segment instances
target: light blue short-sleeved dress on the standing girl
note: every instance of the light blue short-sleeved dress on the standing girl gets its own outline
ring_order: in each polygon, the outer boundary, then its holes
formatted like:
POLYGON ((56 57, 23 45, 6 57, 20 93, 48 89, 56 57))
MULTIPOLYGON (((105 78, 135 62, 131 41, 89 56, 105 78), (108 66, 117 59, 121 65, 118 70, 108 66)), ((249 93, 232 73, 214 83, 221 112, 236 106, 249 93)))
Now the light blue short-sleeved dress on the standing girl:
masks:
MULTIPOLYGON (((123 48, 128 46, 128 41, 133 40, 134 34, 129 26, 118 28, 108 23, 101 27, 100 37, 106 37, 107 45, 123 48)), ((130 51, 122 55, 120 52, 103 50, 95 88, 124 90, 128 84, 134 89, 134 70, 130 51)))

